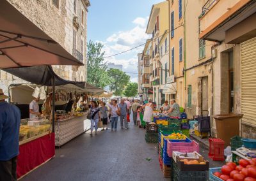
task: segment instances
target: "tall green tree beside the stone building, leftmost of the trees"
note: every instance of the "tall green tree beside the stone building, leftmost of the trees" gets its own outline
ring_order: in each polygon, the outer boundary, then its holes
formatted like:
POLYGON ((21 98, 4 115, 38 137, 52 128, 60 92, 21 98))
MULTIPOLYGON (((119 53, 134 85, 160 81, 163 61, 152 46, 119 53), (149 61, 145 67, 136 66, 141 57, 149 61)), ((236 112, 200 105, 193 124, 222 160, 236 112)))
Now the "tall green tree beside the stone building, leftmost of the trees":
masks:
POLYGON ((102 52, 102 47, 102 43, 94 43, 91 40, 87 44, 87 82, 104 88, 112 80, 106 71, 107 65, 103 58, 105 52, 102 52))

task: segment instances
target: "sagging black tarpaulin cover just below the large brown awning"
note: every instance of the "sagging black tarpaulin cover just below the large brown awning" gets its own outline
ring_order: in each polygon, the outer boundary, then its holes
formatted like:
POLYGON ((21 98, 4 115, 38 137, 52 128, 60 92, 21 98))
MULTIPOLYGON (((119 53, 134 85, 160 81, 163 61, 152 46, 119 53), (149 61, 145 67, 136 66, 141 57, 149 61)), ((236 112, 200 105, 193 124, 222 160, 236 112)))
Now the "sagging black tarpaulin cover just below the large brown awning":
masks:
POLYGON ((52 70, 51 66, 32 66, 24 68, 7 68, 4 71, 11 73, 23 80, 26 80, 37 85, 52 86, 52 78, 55 77, 55 85, 67 85, 73 84, 81 89, 84 89, 85 82, 73 82, 69 80, 64 80, 60 76, 56 75, 52 70))

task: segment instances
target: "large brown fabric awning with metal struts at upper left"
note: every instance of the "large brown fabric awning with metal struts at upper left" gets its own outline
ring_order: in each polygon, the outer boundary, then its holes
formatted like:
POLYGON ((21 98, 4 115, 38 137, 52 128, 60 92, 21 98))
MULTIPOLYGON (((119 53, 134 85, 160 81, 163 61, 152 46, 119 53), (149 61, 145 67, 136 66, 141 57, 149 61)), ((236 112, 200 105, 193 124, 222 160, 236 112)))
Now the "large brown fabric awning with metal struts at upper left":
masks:
POLYGON ((0 68, 39 65, 82 66, 6 0, 0 1, 0 68))

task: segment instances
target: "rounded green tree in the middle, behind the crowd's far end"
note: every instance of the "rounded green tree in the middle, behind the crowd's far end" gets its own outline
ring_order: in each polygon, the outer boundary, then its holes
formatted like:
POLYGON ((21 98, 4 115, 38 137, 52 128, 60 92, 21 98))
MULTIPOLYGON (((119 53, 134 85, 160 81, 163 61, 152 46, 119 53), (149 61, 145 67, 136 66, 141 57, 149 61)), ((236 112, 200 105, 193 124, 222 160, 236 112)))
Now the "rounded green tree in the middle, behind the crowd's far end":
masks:
POLYGON ((108 75, 113 80, 109 84, 110 91, 115 92, 115 96, 122 96, 125 86, 129 83, 130 76, 119 69, 113 68, 108 70, 108 75))

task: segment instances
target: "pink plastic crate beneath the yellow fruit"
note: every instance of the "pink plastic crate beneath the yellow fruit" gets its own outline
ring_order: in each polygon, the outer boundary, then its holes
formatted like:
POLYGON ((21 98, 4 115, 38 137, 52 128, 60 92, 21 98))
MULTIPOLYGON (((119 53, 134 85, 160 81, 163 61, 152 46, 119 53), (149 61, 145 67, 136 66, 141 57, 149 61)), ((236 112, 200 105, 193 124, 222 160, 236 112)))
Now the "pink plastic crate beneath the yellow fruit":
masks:
POLYGON ((172 152, 191 153, 199 152, 199 144, 196 141, 192 142, 171 142, 167 140, 167 154, 172 157, 172 152))

